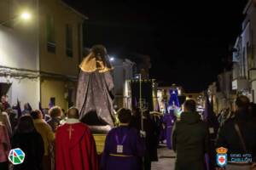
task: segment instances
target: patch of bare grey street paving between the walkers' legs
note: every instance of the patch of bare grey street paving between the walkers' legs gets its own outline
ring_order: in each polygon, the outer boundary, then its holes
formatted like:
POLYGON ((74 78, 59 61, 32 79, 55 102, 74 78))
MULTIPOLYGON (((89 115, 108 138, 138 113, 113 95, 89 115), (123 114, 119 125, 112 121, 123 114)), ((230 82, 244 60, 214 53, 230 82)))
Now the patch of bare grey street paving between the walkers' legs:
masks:
POLYGON ((175 153, 166 147, 158 149, 159 161, 152 163, 152 170, 174 170, 175 153))

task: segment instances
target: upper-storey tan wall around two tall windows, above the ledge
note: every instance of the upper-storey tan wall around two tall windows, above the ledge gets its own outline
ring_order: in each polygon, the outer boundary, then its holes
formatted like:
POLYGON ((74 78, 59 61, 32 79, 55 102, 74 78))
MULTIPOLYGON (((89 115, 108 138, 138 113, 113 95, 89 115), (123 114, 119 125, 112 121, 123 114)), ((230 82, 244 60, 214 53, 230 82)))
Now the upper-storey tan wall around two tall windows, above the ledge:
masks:
POLYGON ((83 18, 63 5, 59 0, 40 1, 40 70, 68 76, 78 76, 81 38, 79 26, 83 18), (50 15, 55 22, 55 54, 47 50, 46 16, 50 15), (73 29, 73 57, 66 54, 66 25, 73 29), (79 37, 80 35, 80 37, 79 37))

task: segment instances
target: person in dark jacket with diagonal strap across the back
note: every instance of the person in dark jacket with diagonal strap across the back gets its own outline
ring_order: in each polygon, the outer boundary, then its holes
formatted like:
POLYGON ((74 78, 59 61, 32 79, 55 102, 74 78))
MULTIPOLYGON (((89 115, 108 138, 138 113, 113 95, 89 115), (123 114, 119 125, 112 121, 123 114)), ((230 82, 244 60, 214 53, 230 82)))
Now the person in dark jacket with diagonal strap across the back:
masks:
MULTIPOLYGON (((239 96, 236 99, 235 117, 224 123, 218 133, 217 148, 228 149, 228 165, 226 169, 249 169, 252 162, 231 162, 231 154, 252 155, 255 162, 256 156, 256 124, 249 114, 249 99, 239 96), (237 130, 237 127, 239 131, 237 130), (241 138, 239 137, 241 133, 241 138), (242 139, 242 141, 241 141, 242 139), (244 143, 244 144, 243 144, 244 143)), ((255 165, 255 164, 254 164, 255 165)), ((221 168, 219 168, 221 169, 221 168)))

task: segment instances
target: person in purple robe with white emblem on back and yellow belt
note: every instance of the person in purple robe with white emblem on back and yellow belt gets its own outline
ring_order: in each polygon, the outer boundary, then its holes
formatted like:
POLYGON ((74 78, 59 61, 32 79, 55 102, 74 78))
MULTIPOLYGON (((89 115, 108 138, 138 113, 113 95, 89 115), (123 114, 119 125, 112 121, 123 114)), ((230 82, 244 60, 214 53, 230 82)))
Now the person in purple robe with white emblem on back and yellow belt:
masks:
POLYGON ((136 128, 129 127, 131 111, 118 111, 119 127, 109 131, 102 154, 102 170, 140 170, 145 144, 136 128))

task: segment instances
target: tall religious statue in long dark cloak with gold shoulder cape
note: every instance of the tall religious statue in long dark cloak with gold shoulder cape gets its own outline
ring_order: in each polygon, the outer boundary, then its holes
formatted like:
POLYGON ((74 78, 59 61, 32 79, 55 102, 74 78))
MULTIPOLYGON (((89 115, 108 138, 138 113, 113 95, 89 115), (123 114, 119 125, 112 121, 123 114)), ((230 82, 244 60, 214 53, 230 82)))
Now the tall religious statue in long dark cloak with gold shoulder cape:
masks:
POLYGON ((93 46, 79 67, 76 104, 80 120, 91 127, 107 126, 109 130, 113 127, 113 67, 107 49, 93 46))

